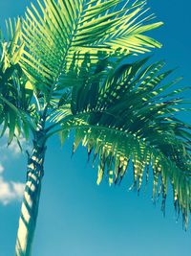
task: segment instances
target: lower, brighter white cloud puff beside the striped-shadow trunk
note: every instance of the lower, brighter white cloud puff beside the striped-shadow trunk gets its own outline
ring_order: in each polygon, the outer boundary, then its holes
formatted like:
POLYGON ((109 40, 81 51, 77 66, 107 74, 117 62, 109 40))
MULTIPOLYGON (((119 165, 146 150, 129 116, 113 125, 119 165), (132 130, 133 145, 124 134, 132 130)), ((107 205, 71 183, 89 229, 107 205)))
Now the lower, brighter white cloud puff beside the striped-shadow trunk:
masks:
POLYGON ((0 202, 4 205, 23 197, 24 184, 20 182, 7 182, 0 176, 0 202))

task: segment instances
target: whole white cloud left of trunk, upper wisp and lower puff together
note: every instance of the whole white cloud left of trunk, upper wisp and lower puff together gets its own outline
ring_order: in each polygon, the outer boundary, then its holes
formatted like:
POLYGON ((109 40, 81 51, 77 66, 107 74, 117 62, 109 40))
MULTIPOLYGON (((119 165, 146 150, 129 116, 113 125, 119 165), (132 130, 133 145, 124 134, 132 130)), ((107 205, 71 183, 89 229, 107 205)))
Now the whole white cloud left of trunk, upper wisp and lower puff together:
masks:
MULTIPOLYGON (((20 148, 16 141, 12 141, 11 145, 7 146, 7 136, 0 141, 0 203, 7 205, 15 200, 20 200, 23 197, 25 185, 21 182, 5 180, 6 162, 21 155, 20 148)), ((19 139, 21 145, 26 148, 26 141, 23 137, 19 139)))

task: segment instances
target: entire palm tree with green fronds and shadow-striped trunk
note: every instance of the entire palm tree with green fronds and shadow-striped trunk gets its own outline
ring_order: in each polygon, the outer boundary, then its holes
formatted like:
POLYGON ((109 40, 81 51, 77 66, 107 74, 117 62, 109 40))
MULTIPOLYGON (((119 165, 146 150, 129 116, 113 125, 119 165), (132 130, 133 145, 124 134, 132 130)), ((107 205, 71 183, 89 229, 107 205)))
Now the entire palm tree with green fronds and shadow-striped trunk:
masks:
POLYGON ((32 138, 17 256, 32 253, 46 144, 54 134, 63 144, 74 131, 74 151, 81 142, 89 156, 94 151, 97 184, 103 175, 110 185, 120 183, 132 163, 139 191, 145 169, 147 179, 153 170, 153 198, 162 194, 163 211, 170 181, 187 227, 191 127, 176 117, 186 109, 180 93, 187 88, 169 90, 179 80, 160 84, 171 73, 161 70, 162 61, 127 58, 160 47, 143 35, 161 25, 150 23, 145 3, 43 0, 15 28, 9 22, 8 43, 1 40, 2 133, 9 129, 9 143, 21 132, 32 138))

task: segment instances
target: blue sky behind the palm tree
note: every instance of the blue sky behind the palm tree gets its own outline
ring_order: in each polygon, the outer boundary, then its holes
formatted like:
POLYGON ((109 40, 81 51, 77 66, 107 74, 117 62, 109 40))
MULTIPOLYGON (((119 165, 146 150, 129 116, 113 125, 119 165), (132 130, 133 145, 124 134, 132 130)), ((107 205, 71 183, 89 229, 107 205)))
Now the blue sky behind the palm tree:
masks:
MULTIPOLYGON (((0 0, 0 24, 9 16, 22 14, 31 1, 0 0)), ((32 1, 34 2, 34 1, 32 1)), ((168 67, 177 67, 181 84, 190 85, 191 3, 189 0, 148 1, 165 25, 152 32, 163 43, 155 52, 168 67)), ((182 116, 188 122, 187 113, 182 116)), ((172 197, 167 200, 165 219, 160 204, 151 200, 151 186, 138 197, 129 192, 132 175, 120 187, 96 185, 96 169, 86 165, 84 149, 71 159, 72 140, 60 148, 58 138, 48 145, 34 256, 186 256, 190 254, 190 228, 176 223, 172 197)), ((0 142, 0 256, 13 256, 20 211, 20 191, 25 182, 26 159, 16 146, 6 149, 0 142), (16 184, 16 185, 15 185, 16 184), (7 198, 6 198, 7 197, 7 198), (8 203, 9 202, 9 203, 8 203)), ((189 226, 190 227, 190 226, 189 226)))

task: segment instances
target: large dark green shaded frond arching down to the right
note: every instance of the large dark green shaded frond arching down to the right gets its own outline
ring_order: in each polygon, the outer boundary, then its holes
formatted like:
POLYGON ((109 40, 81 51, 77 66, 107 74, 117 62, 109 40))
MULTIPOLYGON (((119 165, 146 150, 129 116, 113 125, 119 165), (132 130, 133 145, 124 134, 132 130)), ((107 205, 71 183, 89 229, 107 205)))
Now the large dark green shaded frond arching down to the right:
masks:
POLYGON ((162 194, 164 211, 170 182, 175 207, 187 227, 191 211, 191 126, 180 121, 177 113, 189 110, 183 107, 186 103, 181 94, 190 88, 174 89, 179 80, 164 83, 172 71, 162 72, 163 61, 145 65, 146 61, 117 65, 104 59, 91 70, 86 66, 89 61, 84 60, 76 78, 80 82, 68 98, 70 104, 60 105, 53 113, 53 126, 61 125, 62 142, 71 130, 75 131, 74 151, 80 142, 89 154, 94 151, 97 183, 103 175, 108 176, 110 184, 120 182, 132 163, 134 187, 139 190, 144 172, 148 179, 152 170, 153 198, 162 194))

